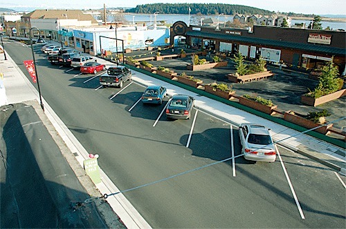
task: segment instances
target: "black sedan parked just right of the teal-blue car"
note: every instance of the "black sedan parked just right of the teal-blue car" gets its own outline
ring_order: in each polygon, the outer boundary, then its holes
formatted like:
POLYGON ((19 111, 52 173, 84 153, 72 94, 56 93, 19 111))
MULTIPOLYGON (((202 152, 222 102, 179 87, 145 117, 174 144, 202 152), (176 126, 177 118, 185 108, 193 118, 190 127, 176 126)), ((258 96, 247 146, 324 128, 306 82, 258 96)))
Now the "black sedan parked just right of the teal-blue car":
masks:
POLYGON ((194 98, 185 94, 174 94, 168 102, 166 116, 169 119, 190 119, 194 98))

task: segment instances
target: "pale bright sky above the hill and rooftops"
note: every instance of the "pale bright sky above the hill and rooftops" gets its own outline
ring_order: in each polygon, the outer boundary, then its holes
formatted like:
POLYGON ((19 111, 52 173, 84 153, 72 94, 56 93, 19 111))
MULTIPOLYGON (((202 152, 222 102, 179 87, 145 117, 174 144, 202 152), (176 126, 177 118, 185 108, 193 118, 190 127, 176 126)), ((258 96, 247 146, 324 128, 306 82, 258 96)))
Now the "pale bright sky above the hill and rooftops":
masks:
MULTIPOLYGON (((212 0, 2 0, 1 8, 44 8, 44 9, 96 9, 111 7, 136 7, 145 3, 215 3, 212 0), (81 3, 82 2, 82 3, 81 3)), ((303 14, 346 14, 346 0, 218 0, 217 3, 252 6, 275 12, 295 12, 303 14)))

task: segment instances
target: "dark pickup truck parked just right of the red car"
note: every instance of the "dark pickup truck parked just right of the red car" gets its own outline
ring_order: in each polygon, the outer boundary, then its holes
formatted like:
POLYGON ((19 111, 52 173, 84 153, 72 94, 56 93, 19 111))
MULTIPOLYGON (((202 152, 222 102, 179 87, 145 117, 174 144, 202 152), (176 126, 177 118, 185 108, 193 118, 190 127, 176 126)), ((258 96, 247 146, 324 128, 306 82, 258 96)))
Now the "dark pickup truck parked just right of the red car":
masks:
POLYGON ((131 81, 131 77, 131 70, 125 66, 109 67, 107 73, 100 75, 100 84, 103 88, 109 86, 122 88, 122 84, 127 80, 131 81))

